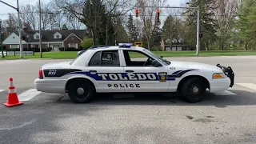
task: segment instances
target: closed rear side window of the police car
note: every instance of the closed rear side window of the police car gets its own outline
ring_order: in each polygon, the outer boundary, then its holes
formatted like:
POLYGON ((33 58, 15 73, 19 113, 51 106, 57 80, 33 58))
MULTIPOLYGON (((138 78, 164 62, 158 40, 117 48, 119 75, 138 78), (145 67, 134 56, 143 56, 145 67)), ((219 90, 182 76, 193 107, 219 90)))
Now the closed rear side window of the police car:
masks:
POLYGON ((118 50, 98 51, 90 59, 89 66, 120 66, 118 50))

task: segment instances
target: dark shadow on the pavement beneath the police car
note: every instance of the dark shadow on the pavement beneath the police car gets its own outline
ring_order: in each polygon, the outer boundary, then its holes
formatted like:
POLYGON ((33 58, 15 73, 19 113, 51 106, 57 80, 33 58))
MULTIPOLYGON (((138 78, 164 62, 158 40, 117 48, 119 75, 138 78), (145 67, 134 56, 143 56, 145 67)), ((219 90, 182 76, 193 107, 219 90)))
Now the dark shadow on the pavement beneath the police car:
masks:
MULTIPOLYGON (((86 105, 166 105, 166 106, 246 106, 256 105, 256 93, 245 90, 230 90, 232 95, 216 95, 209 92, 202 102, 190 103, 181 94, 98 94, 86 105)), ((68 97, 65 96, 65 97, 68 97)), ((73 103, 70 99, 58 103, 73 103)))

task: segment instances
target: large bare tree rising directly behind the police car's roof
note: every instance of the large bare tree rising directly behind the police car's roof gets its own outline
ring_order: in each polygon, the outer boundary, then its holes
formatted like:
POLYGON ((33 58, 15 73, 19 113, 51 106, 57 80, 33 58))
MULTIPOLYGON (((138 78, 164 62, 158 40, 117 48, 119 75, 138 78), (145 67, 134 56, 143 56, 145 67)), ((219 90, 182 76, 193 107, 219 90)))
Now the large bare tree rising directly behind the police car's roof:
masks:
MULTIPOLYGON (((113 18, 126 14, 134 5, 134 0, 54 0, 55 7, 67 15, 73 15, 86 25, 91 31, 94 45, 97 39, 100 39, 97 33, 98 29, 102 29, 102 25, 105 25, 106 31, 104 42, 112 41, 108 40, 111 29, 109 30, 107 27, 113 27, 113 18), (105 17, 100 15, 103 14, 102 11, 105 11, 105 14, 110 19, 100 19, 100 17, 105 17), (102 23, 103 21, 106 23, 102 23)), ((102 33, 100 37, 102 37, 102 33)))

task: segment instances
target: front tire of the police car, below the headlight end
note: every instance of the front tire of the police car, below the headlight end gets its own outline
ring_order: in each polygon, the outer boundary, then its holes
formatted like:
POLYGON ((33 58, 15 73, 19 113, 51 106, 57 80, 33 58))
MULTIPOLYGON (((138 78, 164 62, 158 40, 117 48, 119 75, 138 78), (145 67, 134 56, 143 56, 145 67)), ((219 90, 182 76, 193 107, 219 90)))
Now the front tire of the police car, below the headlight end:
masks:
POLYGON ((188 102, 201 102, 206 95, 206 84, 202 78, 190 78, 182 84, 181 93, 188 102))

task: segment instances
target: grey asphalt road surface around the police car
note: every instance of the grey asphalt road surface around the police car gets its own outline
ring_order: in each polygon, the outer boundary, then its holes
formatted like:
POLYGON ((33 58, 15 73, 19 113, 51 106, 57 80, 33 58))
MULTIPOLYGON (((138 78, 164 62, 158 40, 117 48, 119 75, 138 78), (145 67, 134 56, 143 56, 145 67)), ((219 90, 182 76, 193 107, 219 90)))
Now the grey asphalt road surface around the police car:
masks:
POLYGON ((232 66, 235 85, 196 104, 176 94, 100 95, 74 104, 67 95, 40 93, 9 108, 2 103, 10 77, 22 95, 34 89, 40 66, 66 60, 0 61, 0 143, 256 143, 256 57, 167 59, 232 66))

